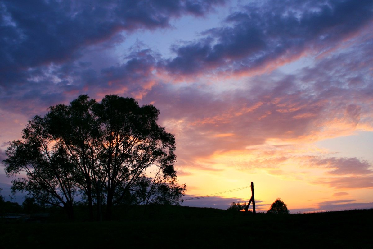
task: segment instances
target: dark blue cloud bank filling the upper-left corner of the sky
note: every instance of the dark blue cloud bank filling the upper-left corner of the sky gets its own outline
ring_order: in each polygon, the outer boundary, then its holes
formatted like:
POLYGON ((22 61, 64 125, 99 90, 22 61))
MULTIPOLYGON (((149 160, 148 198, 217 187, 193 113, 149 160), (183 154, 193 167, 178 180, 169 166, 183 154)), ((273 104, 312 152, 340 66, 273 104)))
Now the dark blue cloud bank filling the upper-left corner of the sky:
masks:
MULTIPOLYGON (((79 55, 82 46, 101 43, 120 31, 169 27, 181 15, 202 16, 215 1, 106 1, 1 4, 2 68, 18 70, 79 55)), ((3 71, 3 70, 2 70, 3 71)))

